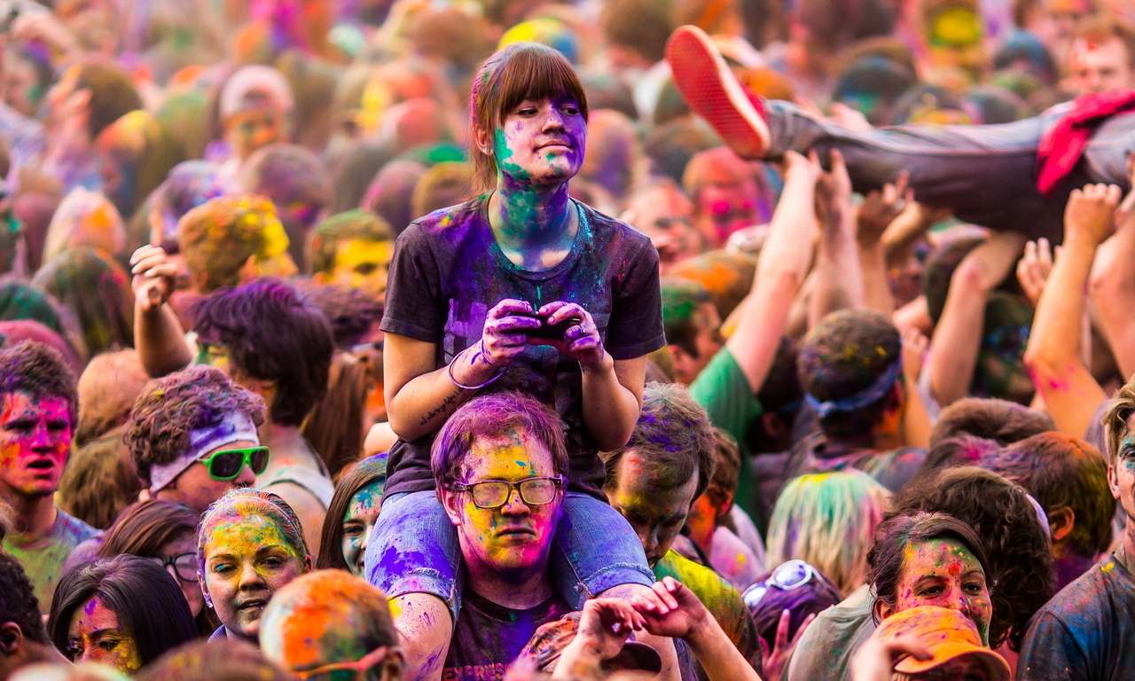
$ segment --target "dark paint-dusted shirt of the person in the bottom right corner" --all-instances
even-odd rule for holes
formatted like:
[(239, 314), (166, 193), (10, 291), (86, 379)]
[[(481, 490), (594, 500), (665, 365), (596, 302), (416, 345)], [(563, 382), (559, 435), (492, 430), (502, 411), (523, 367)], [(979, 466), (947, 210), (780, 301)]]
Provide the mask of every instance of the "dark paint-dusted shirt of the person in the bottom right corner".
[(1120, 557), (1098, 563), (1033, 615), (1018, 680), (1135, 679), (1135, 577)]

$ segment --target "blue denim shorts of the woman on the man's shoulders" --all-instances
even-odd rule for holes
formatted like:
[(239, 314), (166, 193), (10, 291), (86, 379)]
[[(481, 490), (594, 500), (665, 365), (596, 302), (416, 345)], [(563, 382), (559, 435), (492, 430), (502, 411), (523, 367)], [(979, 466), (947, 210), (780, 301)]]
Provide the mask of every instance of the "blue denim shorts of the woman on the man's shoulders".
[[(367, 581), (389, 597), (430, 594), (461, 609), (457, 530), (434, 491), (382, 499), (363, 560)], [(568, 493), (552, 547), (553, 586), (572, 607), (619, 585), (654, 583), (646, 552), (631, 526), (609, 505)]]

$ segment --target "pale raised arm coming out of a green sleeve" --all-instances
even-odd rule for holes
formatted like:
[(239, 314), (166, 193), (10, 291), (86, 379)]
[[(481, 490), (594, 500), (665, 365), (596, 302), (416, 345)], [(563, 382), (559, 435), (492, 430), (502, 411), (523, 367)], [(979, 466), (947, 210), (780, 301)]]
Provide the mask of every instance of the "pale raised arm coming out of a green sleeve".
[(725, 342), (754, 394), (768, 376), (789, 309), (808, 275), (817, 229), (814, 202), (819, 161), (815, 152), (807, 159), (788, 152), (784, 159), (784, 190), (760, 250), (753, 288)]

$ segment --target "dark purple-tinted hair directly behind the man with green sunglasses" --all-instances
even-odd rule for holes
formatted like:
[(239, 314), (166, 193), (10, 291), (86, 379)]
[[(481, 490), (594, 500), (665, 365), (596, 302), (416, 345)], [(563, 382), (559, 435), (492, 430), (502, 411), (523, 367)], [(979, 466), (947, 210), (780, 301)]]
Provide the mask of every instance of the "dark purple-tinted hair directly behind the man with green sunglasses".
[(300, 426), (327, 393), (334, 342), (322, 311), (276, 277), (224, 287), (197, 303), (201, 343), (228, 351), (233, 376), (276, 381), (268, 418)]

